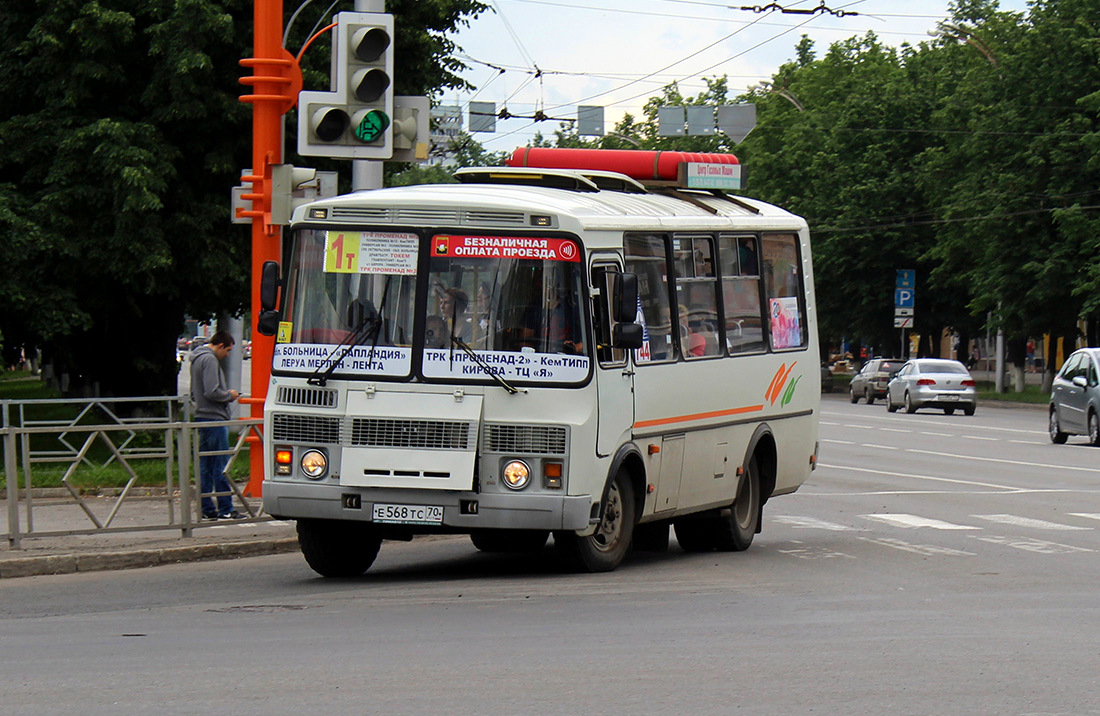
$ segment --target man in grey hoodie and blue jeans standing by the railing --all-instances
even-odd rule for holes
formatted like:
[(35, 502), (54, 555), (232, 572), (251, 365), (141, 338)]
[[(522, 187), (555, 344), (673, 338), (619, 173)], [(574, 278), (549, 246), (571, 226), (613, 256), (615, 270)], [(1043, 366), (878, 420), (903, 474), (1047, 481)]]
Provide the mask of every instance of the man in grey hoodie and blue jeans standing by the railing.
[[(195, 405), (195, 421), (231, 420), (230, 405), (240, 393), (226, 387), (226, 374), (221, 361), (233, 350), (233, 337), (228, 331), (218, 331), (210, 342), (191, 355), (191, 403)], [(199, 428), (199, 450), (213, 452), (229, 450), (229, 427)], [(232, 487), (226, 477), (229, 455), (206, 455), (199, 458), (199, 476), (202, 489), (204, 519), (241, 519), (241, 513), (233, 509)], [(211, 493), (218, 495), (217, 505)]]

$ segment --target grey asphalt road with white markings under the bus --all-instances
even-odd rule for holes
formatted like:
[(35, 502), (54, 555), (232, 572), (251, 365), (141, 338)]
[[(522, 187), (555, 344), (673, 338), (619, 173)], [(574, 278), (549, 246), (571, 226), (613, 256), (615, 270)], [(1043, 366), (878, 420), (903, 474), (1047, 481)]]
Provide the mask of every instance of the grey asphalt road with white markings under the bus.
[(0, 583), (12, 714), (1100, 714), (1100, 449), (840, 396), (740, 554), (389, 543)]

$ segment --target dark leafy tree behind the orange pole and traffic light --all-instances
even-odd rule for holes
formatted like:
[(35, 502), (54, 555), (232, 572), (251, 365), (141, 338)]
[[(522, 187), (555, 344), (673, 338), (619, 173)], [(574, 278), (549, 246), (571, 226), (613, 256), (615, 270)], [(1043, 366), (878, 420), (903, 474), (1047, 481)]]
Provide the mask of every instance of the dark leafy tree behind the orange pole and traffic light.
[[(249, 234), (227, 214), (251, 164), (238, 60), (251, 54), (252, 3), (10, 4), (0, 12), (0, 333), (42, 346), (69, 393), (174, 394), (184, 316), (234, 312), (248, 299)], [(389, 8), (397, 91), (460, 86), (448, 33), (486, 7)], [(309, 33), (300, 20), (292, 47)], [(306, 57), (307, 82), (327, 86), (329, 54)]]

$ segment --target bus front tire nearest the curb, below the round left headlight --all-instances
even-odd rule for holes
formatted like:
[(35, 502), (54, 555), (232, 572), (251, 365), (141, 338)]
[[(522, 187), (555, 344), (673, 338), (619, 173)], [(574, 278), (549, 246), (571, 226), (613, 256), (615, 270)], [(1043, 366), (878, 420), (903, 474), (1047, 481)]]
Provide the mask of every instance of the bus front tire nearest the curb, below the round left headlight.
[(299, 519), (298, 546), (310, 569), (321, 576), (359, 576), (374, 564), (382, 537), (359, 522)]

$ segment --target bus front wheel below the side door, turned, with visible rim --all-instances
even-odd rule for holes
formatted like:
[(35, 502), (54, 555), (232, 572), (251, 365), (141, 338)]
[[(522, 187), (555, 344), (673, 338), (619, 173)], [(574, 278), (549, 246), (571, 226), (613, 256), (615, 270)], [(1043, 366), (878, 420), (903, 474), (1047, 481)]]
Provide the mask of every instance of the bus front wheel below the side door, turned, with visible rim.
[(610, 572), (626, 558), (634, 537), (634, 488), (625, 472), (615, 475), (596, 531), (586, 537), (554, 532), (554, 549), (579, 571)]

